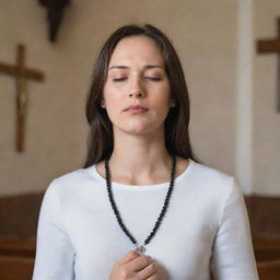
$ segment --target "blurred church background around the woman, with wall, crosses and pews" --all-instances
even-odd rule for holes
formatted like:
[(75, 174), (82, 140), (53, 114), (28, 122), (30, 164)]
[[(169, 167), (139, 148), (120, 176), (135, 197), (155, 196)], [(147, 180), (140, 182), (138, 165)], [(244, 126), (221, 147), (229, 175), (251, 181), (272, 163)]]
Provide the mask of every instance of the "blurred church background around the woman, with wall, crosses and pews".
[(31, 280), (49, 183), (81, 168), (85, 98), (101, 45), (151, 23), (172, 39), (190, 139), (243, 188), (260, 280), (280, 279), (279, 0), (1, 0), (0, 280)]

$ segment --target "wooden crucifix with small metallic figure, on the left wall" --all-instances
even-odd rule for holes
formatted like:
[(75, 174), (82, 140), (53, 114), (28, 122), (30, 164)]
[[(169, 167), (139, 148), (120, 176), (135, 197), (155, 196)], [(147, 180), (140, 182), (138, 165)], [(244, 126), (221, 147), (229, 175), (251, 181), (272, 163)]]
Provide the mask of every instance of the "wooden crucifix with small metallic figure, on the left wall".
[(16, 151), (22, 152), (24, 150), (24, 128), (26, 117), (26, 102), (27, 92), (25, 81), (32, 79), (35, 81), (43, 81), (44, 73), (24, 68), (25, 65), (25, 48), (23, 45), (18, 45), (18, 59), (16, 65), (11, 66), (7, 63), (0, 63), (0, 72), (12, 75), (16, 79)]

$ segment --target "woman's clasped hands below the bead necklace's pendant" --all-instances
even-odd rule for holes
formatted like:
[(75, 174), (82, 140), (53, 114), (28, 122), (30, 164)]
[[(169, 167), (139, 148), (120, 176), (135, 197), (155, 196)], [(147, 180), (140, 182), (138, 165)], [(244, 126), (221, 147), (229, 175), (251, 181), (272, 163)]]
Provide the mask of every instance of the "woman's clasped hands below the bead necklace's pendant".
[(165, 280), (162, 269), (149, 256), (130, 250), (114, 265), (109, 280)]

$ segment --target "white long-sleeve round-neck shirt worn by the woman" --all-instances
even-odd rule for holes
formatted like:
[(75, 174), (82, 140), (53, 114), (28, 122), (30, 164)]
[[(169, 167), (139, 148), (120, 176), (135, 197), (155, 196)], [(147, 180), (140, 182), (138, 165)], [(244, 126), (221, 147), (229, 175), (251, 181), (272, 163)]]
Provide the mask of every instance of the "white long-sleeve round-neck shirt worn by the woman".
[[(122, 221), (143, 244), (170, 183), (112, 183)], [(145, 246), (172, 280), (257, 280), (244, 198), (234, 178), (190, 161), (175, 179), (167, 212)], [(33, 280), (107, 280), (135, 246), (125, 235), (96, 166), (51, 182), (42, 203)]]

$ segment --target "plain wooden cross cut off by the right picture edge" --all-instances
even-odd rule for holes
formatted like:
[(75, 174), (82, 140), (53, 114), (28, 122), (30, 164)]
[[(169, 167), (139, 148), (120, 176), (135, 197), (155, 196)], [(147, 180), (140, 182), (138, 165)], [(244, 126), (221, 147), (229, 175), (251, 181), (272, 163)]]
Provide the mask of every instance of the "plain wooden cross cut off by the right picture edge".
[(259, 54), (278, 54), (278, 89), (277, 89), (277, 112), (280, 113), (280, 18), (277, 19), (278, 37), (271, 39), (260, 39), (257, 42)]

